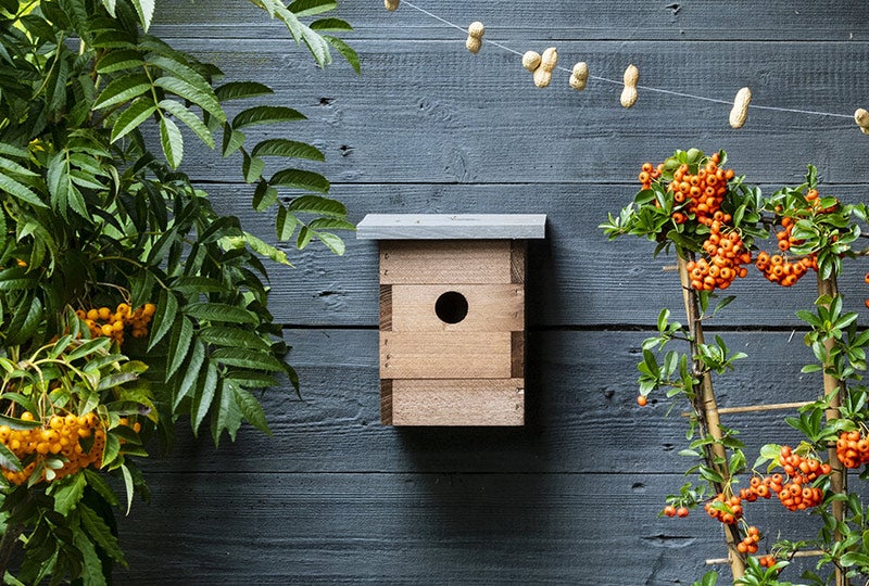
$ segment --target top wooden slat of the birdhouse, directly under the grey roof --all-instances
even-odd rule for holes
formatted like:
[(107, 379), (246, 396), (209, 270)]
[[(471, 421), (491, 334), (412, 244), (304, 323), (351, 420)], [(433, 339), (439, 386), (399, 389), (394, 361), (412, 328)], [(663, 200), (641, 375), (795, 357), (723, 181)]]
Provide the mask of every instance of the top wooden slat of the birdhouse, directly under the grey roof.
[(509, 240), (380, 242), (381, 284), (511, 283)]

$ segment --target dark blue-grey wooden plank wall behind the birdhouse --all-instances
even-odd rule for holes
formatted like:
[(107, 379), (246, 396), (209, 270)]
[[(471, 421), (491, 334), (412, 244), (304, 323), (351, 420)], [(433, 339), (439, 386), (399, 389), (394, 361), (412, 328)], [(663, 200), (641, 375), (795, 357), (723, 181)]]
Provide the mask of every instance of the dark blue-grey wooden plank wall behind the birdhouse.
[[(719, 104), (619, 88), (577, 93), (558, 73), (539, 90), (518, 58), (380, 0), (347, 1), (357, 30), (357, 78), (345, 64), (318, 72), (276, 23), (242, 0), (160, 2), (155, 30), (254, 77), (275, 103), (311, 122), (294, 137), (320, 146), (322, 170), (354, 220), (366, 213), (545, 213), (549, 239), (531, 246), (528, 425), (392, 429), (378, 422), (377, 251), (351, 240), (343, 258), (320, 249), (273, 271), (303, 399), (265, 397), (275, 437), (250, 430), (214, 450), (182, 432), (178, 450), (146, 464), (150, 506), (122, 525), (130, 568), (122, 584), (685, 584), (723, 550), (702, 512), (657, 519), (683, 483), (684, 422), (667, 405), (635, 407), (635, 362), (658, 308), (679, 310), (678, 283), (640, 241), (607, 243), (596, 229), (627, 204), (645, 160), (677, 148), (727, 149), (767, 189), (798, 183), (809, 162), (823, 190), (866, 198), (869, 138), (853, 122), (753, 110), (744, 129)], [(869, 18), (864, 2), (419, 0), (519, 50), (558, 47), (561, 64), (587, 61), (619, 79), (730, 100), (851, 114), (869, 106)], [(270, 237), (273, 218), (249, 211), (231, 164), (190, 151), (187, 170), (223, 209)], [(869, 289), (843, 279), (853, 307)], [(811, 397), (809, 359), (793, 311), (809, 279), (770, 290), (758, 275), (715, 324), (750, 354), (719, 383), (721, 404)], [(866, 310), (862, 309), (865, 314)], [(751, 449), (795, 441), (780, 415), (727, 418)], [(799, 538), (803, 517), (774, 502), (753, 522)]]

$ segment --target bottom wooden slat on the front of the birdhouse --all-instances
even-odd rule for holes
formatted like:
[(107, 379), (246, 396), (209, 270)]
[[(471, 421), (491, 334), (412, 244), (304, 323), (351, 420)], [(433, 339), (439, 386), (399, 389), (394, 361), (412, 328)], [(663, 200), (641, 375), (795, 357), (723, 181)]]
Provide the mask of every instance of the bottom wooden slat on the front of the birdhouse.
[(395, 380), (393, 425), (522, 425), (525, 383), (506, 380)]

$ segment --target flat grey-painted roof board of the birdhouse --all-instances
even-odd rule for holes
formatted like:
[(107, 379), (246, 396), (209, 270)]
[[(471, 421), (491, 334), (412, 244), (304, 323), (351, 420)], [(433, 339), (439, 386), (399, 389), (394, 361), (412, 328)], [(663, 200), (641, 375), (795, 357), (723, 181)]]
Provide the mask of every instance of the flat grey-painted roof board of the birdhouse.
[(517, 240), (545, 234), (545, 214), (368, 214), (356, 226), (360, 240)]

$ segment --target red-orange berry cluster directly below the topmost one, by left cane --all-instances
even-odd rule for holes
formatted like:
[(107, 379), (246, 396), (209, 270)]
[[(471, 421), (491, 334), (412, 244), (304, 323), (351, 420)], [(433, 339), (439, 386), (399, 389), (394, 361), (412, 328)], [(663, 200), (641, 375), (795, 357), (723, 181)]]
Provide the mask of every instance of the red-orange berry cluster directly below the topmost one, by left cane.
[(752, 253), (745, 249), (739, 232), (721, 231), (730, 215), (717, 211), (714, 217), (709, 238), (703, 243), (703, 252), (709, 259), (690, 260), (687, 266), (691, 289), (695, 291), (727, 289), (736, 277), (744, 278), (748, 273), (743, 265), (752, 262)]

